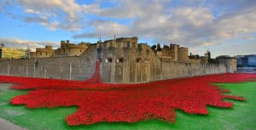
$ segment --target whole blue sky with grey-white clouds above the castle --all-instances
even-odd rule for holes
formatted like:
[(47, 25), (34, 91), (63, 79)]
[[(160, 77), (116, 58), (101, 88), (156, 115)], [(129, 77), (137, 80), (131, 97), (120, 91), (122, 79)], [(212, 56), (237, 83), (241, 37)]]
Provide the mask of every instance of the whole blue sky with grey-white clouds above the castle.
[(0, 42), (12, 48), (116, 35), (193, 54), (256, 54), (256, 0), (0, 0), (0, 20)]

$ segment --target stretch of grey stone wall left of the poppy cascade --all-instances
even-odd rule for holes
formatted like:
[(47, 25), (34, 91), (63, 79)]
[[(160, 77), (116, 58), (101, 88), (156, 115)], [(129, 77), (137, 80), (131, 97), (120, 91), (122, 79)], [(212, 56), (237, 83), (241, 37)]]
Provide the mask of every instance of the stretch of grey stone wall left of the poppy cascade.
[[(95, 71), (96, 46), (80, 57), (0, 60), (0, 75), (84, 80)], [(36, 66), (36, 67), (35, 67)]]

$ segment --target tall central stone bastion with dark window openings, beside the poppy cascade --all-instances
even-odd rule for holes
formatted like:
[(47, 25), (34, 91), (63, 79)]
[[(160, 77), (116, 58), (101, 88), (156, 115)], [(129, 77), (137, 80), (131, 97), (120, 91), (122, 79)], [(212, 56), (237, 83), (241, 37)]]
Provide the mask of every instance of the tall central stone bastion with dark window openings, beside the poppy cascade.
[[(103, 82), (149, 82), (160, 69), (160, 60), (146, 44), (138, 48), (102, 48)], [(158, 61), (157, 61), (158, 60)]]

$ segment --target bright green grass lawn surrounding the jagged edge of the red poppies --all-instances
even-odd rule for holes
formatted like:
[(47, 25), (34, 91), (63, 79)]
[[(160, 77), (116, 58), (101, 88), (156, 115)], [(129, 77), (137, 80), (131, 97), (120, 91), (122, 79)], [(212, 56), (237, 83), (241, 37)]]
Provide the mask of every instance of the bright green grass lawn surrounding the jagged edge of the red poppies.
[(0, 117), (30, 130), (256, 130), (256, 82), (218, 84), (231, 90), (230, 94), (241, 95), (246, 102), (229, 100), (234, 103), (232, 109), (207, 106), (208, 116), (189, 115), (177, 111), (175, 123), (157, 120), (125, 123), (100, 122), (90, 126), (69, 127), (65, 117), (77, 110), (76, 107), (59, 107), (55, 109), (27, 109), (24, 105), (10, 105), (9, 100), (26, 91), (9, 89), (10, 84), (0, 84)]

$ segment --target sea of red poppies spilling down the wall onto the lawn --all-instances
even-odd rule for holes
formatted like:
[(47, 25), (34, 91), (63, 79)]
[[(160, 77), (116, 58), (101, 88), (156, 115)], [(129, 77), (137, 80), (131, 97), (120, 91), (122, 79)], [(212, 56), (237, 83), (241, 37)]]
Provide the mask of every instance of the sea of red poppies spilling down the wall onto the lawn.
[(233, 103), (224, 99), (246, 100), (242, 95), (226, 95), (229, 90), (212, 82), (255, 81), (256, 74), (194, 76), (140, 84), (103, 83), (100, 77), (97, 63), (95, 75), (84, 82), (18, 76), (0, 76), (0, 82), (15, 83), (11, 87), (14, 89), (31, 90), (12, 99), (13, 105), (31, 109), (78, 106), (76, 113), (66, 117), (68, 125), (76, 126), (152, 119), (175, 122), (177, 109), (207, 115), (207, 105), (230, 108)]

